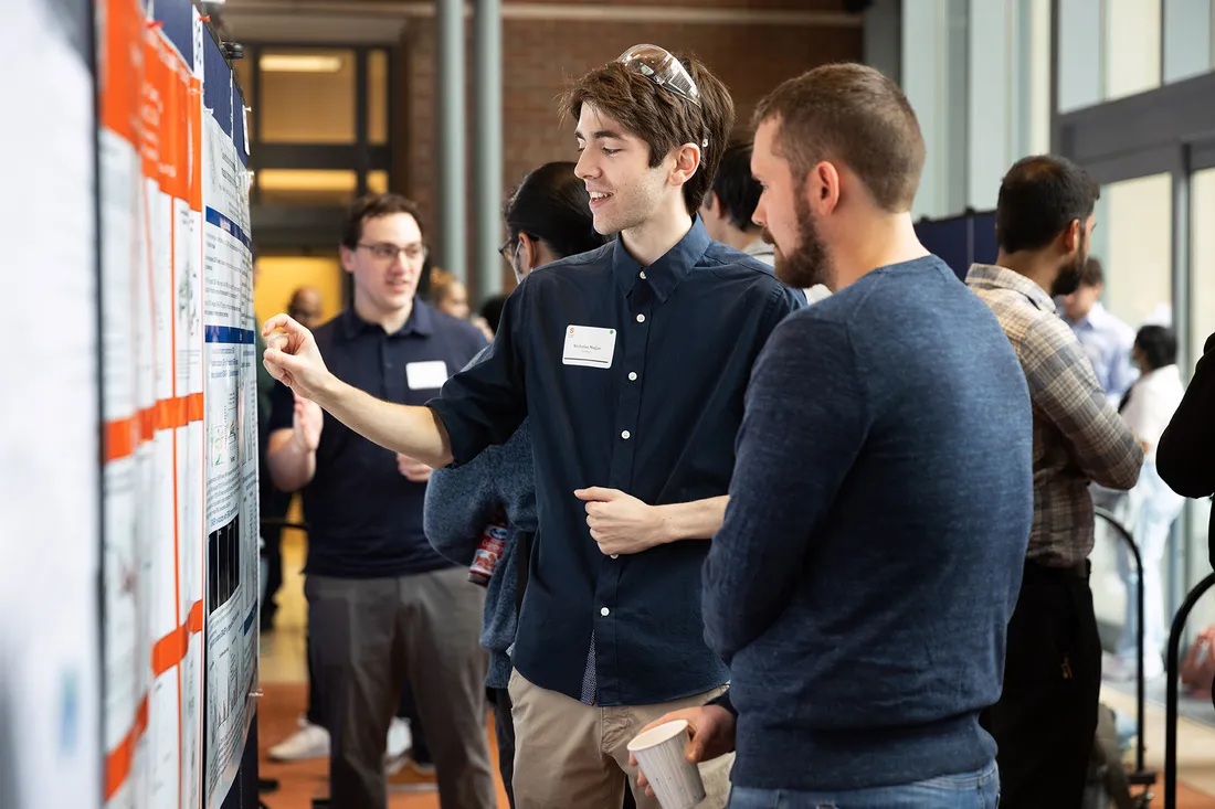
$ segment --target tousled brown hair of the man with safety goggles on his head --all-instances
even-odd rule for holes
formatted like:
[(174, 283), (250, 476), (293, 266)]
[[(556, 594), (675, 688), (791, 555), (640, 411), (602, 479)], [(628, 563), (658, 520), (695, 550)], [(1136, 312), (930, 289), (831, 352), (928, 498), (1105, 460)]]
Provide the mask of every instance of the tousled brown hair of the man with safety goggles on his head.
[[(575, 120), (582, 104), (617, 121), (650, 147), (650, 168), (684, 143), (700, 146), (700, 166), (684, 183), (688, 213), (700, 208), (713, 182), (734, 128), (734, 100), (720, 79), (703, 62), (680, 58), (700, 91), (700, 106), (633, 73), (620, 62), (609, 62), (578, 79), (561, 96), (561, 109)], [(708, 140), (708, 145), (703, 141)]]

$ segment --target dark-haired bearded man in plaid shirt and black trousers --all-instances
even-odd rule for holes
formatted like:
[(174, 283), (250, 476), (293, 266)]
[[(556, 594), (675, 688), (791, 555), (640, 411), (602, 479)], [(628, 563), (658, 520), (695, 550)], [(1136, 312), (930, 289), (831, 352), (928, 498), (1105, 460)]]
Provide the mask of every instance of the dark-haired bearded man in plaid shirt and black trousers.
[(999, 745), (1001, 808), (1081, 804), (1101, 691), (1089, 485), (1129, 490), (1143, 462), (1055, 310), (1053, 296), (1079, 284), (1098, 196), (1062, 158), (1017, 162), (1000, 186), (996, 264), (974, 265), (966, 278), (1008, 335), (1034, 406), (1034, 521), (1004, 692), (983, 718)]

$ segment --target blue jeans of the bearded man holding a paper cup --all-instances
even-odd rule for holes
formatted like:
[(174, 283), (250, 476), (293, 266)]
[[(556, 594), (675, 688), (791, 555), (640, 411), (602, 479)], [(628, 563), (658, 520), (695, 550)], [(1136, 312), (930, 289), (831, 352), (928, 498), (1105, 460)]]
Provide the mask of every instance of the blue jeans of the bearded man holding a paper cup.
[(999, 797), (1000, 774), (991, 762), (974, 773), (871, 790), (795, 792), (734, 787), (729, 809), (995, 809)]

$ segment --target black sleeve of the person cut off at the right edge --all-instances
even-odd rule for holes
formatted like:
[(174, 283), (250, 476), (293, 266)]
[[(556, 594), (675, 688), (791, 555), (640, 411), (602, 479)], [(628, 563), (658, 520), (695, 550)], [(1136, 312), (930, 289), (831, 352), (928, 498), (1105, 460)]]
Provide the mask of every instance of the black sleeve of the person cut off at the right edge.
[(1157, 446), (1155, 466), (1183, 497), (1215, 493), (1215, 334)]

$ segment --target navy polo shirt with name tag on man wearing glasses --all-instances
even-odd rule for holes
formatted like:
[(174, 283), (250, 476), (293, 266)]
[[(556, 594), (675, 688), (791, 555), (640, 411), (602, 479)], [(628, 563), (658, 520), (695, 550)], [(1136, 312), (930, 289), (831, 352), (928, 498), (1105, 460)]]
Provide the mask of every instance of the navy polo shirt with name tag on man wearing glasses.
[[(317, 328), (315, 336), (338, 379), (400, 405), (422, 405), (434, 397), (447, 375), (485, 346), (476, 327), (420, 300), (395, 334), (347, 309)], [(279, 383), (273, 396), (271, 431), (290, 429), (290, 389)], [(425, 496), (425, 483), (401, 475), (395, 452), (326, 413), (316, 475), (303, 490), (309, 524), (304, 572), (378, 578), (450, 567), (423, 533)]]

